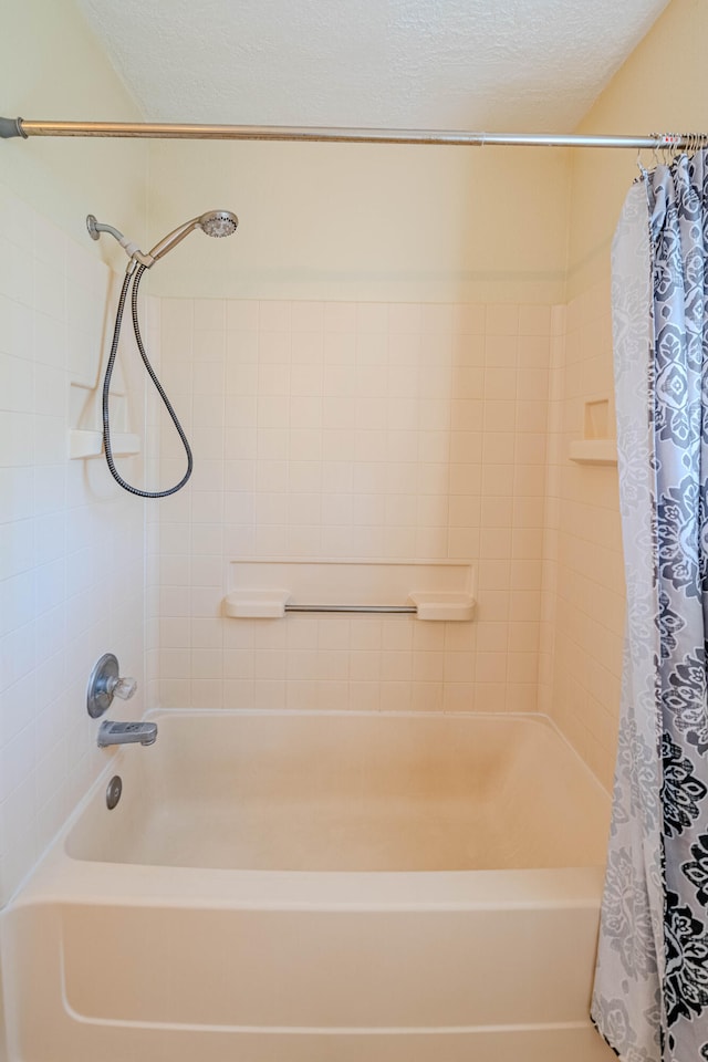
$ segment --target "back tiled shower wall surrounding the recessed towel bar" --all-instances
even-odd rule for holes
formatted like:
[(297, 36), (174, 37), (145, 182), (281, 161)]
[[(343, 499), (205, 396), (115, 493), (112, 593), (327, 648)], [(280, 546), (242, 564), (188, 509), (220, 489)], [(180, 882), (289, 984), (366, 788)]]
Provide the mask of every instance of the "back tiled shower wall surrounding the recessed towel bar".
[[(149, 510), (150, 704), (535, 710), (550, 308), (160, 300), (190, 486)], [(183, 473), (160, 419), (160, 486)], [(473, 623), (222, 618), (230, 560), (449, 560)]]

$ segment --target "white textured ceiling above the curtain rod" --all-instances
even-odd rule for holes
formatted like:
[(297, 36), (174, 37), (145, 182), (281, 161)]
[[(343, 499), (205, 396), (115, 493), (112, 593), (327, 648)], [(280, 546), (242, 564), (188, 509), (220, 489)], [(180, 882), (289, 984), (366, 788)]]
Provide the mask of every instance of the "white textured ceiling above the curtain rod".
[(668, 0), (77, 2), (148, 121), (565, 132)]

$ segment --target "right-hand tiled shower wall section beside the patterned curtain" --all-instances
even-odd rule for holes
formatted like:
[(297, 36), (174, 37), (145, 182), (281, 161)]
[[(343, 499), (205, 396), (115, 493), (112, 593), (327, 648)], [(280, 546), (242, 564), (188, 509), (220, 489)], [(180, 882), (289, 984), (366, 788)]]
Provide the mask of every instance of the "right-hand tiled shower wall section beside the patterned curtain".
[(617, 469), (577, 465), (569, 450), (589, 430), (587, 402), (607, 403), (606, 435), (614, 437), (613, 391), (611, 296), (603, 283), (569, 303), (551, 355), (539, 704), (606, 788), (625, 612)]

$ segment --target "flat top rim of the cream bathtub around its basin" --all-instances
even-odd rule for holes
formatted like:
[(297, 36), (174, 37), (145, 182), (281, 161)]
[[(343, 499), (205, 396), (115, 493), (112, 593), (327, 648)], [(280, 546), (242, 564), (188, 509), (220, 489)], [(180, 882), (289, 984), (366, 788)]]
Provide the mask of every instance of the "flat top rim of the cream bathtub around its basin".
[[(144, 719), (163, 721), (180, 716), (217, 718), (243, 716), (336, 716), (352, 718), (494, 719), (550, 729), (572, 753), (579, 769), (608, 794), (553, 719), (541, 712), (350, 711), (347, 709), (191, 709), (153, 708)], [(111, 754), (98, 777), (73, 809), (38, 863), (4, 907), (37, 903), (111, 906), (209, 906), (289, 910), (435, 910), (509, 909), (548, 906), (596, 907), (602, 896), (604, 866), (475, 871), (251, 871), (164, 866), (79, 860), (69, 855), (69, 833), (124, 757), (143, 749), (128, 747)]]

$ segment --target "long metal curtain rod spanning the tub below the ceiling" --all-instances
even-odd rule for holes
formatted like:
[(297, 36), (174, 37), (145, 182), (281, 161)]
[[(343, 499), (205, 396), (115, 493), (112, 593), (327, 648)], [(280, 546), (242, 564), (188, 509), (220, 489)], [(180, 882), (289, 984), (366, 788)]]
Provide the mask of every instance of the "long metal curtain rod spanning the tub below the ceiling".
[(30, 122), (0, 118), (0, 138), (29, 136), (126, 136), (185, 140), (309, 140), (340, 144), (442, 144), (469, 147), (626, 147), (690, 150), (708, 146), (706, 133), (648, 136), (579, 136), (548, 133), (468, 133), (444, 129), (308, 128), (287, 125), (188, 125), (159, 122)]

